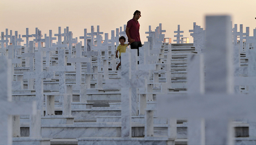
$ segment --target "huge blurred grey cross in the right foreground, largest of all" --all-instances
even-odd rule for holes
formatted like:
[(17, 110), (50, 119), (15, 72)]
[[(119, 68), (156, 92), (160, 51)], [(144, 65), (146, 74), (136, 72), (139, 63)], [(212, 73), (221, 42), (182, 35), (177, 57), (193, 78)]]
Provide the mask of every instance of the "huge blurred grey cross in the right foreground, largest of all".
[[(158, 112), (161, 112), (158, 115), (205, 118), (206, 144), (233, 144), (233, 129), (229, 125), (229, 118), (253, 117), (251, 115), (254, 114), (256, 107), (252, 102), (255, 102), (256, 98), (230, 95), (233, 92), (230, 16), (207, 16), (206, 28), (206, 95), (191, 94), (178, 98), (170, 98), (168, 95), (157, 96)], [(169, 107), (165, 106), (167, 102)], [(204, 133), (201, 135), (204, 136)], [(188, 144), (204, 144), (203, 139), (199, 138), (197, 141)]]

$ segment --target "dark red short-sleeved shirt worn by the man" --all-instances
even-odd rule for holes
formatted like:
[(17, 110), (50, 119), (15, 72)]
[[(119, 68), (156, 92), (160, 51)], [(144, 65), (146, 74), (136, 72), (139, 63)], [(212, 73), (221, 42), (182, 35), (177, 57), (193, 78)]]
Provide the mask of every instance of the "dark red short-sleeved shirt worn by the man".
[[(136, 22), (136, 20), (133, 18), (127, 22), (127, 26), (129, 29), (129, 34), (132, 39), (134, 39), (136, 42), (140, 42), (140, 24), (139, 21)], [(128, 39), (129, 42), (129, 39)]]

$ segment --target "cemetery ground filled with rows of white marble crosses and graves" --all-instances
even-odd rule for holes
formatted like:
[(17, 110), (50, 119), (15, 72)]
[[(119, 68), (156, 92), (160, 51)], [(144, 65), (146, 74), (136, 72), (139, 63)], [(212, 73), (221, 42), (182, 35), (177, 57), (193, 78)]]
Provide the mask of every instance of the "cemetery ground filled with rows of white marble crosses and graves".
[(0, 144), (256, 144), (256, 29), (249, 36), (231, 23), (191, 24), (193, 43), (180, 25), (176, 43), (162, 24), (149, 26), (139, 56), (128, 46), (119, 70), (126, 25), (111, 37), (99, 26), (76, 38), (69, 27), (44, 36), (6, 29)]

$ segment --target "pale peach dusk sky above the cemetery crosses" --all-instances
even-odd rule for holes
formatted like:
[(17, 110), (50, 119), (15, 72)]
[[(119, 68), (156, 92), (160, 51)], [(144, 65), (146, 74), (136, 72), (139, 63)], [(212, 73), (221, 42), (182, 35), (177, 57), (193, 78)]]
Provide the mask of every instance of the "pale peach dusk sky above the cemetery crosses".
[[(29, 34), (35, 34), (35, 28), (42, 31), (42, 35), (49, 36), (58, 33), (58, 27), (64, 32), (69, 26), (73, 38), (83, 36), (84, 28), (90, 33), (91, 26), (97, 31), (109, 33), (111, 30), (123, 27), (132, 19), (133, 12), (141, 11), (140, 38), (142, 43), (147, 41), (148, 26), (154, 31), (159, 23), (166, 30), (165, 37), (174, 38), (177, 25), (184, 31), (184, 37), (193, 43), (189, 30), (193, 29), (193, 22), (204, 27), (206, 15), (229, 14), (234, 24), (244, 24), (250, 27), (250, 36), (256, 27), (255, 14), (256, 0), (0, 0), (0, 32), (5, 28), (18, 31), (25, 35), (26, 28)], [(239, 31), (239, 30), (238, 30)], [(104, 35), (102, 35), (104, 39)], [(32, 41), (34, 38), (30, 38)], [(23, 38), (25, 40), (25, 38)], [(83, 39), (78, 39), (78, 42)], [(176, 43), (176, 42), (174, 42)]]

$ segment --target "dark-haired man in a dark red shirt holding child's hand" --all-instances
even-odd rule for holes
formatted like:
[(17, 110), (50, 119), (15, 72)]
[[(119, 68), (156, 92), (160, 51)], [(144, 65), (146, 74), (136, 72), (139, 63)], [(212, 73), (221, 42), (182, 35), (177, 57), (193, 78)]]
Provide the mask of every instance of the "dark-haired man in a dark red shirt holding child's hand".
[(140, 24), (138, 19), (141, 17), (140, 11), (136, 10), (133, 14), (133, 18), (127, 22), (126, 26), (126, 35), (128, 37), (128, 42), (131, 43), (131, 49), (138, 49), (139, 56), (139, 47), (142, 47), (140, 41)]

